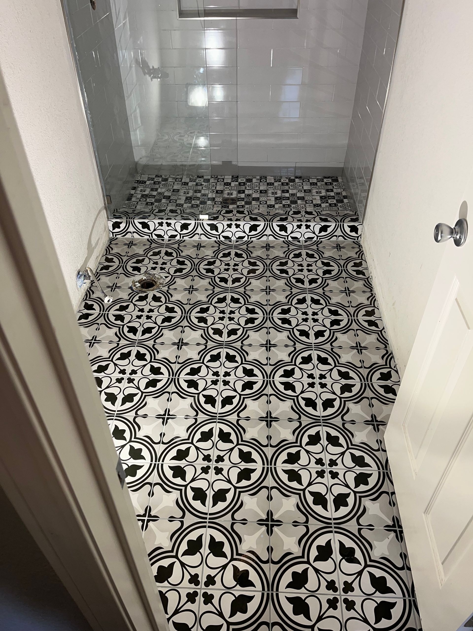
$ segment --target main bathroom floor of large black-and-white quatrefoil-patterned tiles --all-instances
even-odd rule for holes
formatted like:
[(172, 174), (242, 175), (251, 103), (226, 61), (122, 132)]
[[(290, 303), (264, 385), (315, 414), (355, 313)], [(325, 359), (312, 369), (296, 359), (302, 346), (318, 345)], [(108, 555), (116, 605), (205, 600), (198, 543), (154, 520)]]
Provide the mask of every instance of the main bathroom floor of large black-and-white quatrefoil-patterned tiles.
[(172, 631), (418, 631), (361, 246), (114, 238), (97, 273), (79, 325)]

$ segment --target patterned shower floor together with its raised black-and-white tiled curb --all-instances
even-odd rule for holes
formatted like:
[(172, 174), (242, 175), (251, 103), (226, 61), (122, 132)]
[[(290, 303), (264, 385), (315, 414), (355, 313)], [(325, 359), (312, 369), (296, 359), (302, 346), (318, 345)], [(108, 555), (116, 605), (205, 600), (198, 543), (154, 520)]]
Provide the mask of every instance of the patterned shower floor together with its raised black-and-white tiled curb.
[(117, 237), (359, 239), (341, 177), (138, 175), (108, 221)]

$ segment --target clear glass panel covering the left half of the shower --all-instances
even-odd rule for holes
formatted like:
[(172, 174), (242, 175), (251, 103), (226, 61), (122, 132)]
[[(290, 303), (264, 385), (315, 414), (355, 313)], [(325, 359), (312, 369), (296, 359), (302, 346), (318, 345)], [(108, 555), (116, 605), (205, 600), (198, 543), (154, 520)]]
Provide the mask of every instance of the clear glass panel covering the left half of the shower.
[(175, 0), (64, 3), (114, 215), (132, 214), (136, 174), (238, 173), (237, 19), (208, 15), (236, 0), (185, 0), (192, 19)]

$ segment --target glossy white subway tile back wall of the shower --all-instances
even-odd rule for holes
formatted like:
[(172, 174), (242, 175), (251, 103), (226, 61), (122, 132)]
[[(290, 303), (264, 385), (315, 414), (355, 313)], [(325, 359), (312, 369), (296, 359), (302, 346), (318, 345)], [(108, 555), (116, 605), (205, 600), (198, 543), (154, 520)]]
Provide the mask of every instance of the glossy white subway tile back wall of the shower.
[[(202, 21), (178, 20), (175, 0), (110, 1), (139, 170), (341, 172), (368, 0)], [(208, 86), (202, 107), (187, 103), (192, 85)]]

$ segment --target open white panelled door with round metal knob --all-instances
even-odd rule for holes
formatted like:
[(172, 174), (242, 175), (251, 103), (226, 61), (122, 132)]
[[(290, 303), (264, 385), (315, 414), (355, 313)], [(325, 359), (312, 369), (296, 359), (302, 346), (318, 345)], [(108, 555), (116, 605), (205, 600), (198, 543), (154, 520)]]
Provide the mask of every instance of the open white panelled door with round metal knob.
[(385, 436), (424, 631), (473, 612), (473, 171), (458, 207)]

